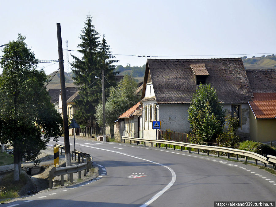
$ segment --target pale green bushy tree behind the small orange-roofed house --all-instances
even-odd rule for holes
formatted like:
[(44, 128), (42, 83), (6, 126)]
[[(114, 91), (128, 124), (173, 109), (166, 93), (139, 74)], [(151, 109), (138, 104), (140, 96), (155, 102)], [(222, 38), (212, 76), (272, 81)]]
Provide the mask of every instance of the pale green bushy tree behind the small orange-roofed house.
[[(125, 75), (116, 88), (110, 89), (110, 95), (105, 103), (105, 124), (113, 126), (114, 121), (139, 102), (140, 97), (136, 96), (137, 83), (130, 75)], [(102, 126), (102, 104), (96, 108), (95, 117), (99, 126)]]

